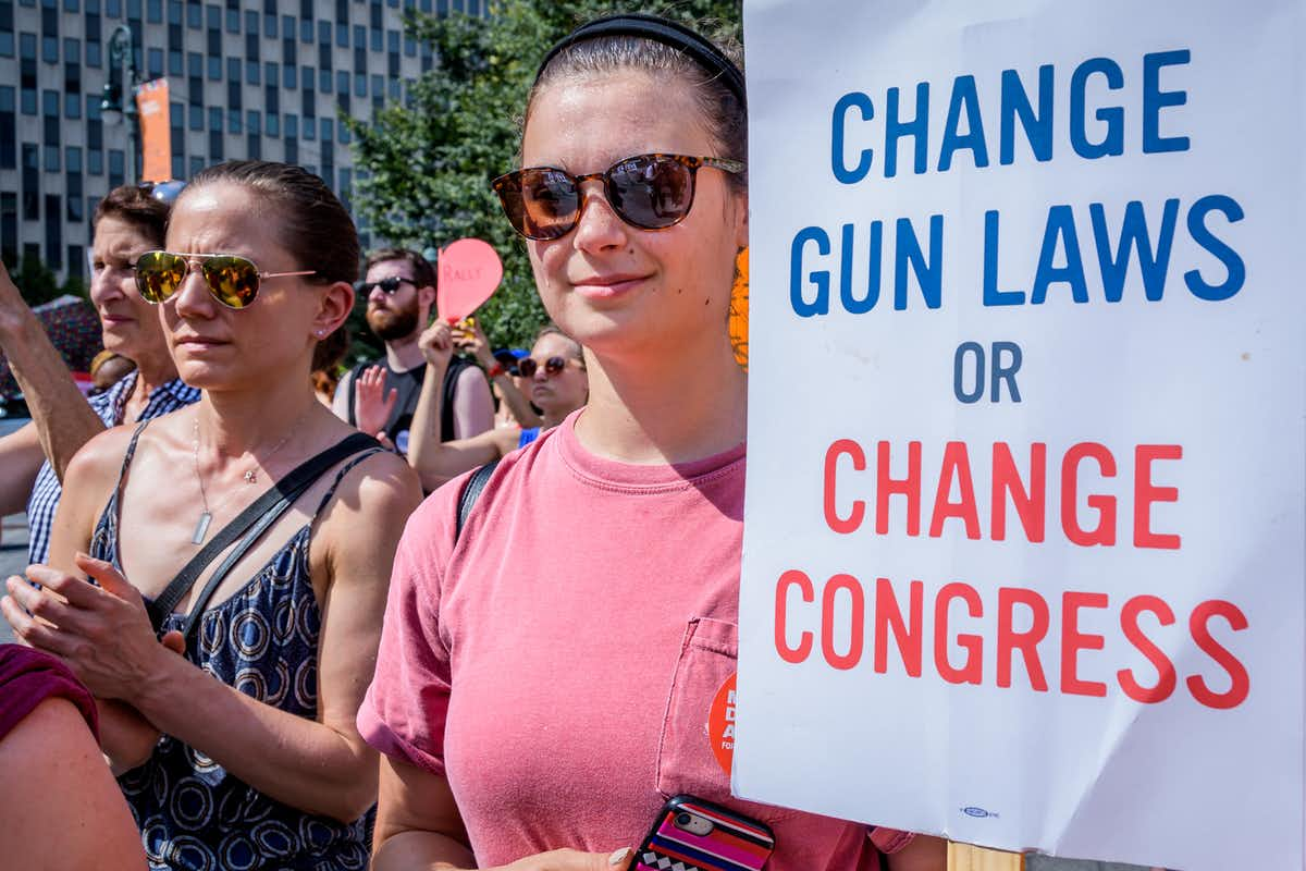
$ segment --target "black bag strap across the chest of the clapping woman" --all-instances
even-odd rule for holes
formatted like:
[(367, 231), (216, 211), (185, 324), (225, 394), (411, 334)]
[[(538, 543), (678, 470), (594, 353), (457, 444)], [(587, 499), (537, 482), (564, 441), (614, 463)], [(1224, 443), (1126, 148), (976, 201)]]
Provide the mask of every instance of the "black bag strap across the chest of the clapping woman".
[[(230, 547), (231, 542), (236, 541), (242, 535), (246, 535), (247, 531), (257, 533), (253, 537), (247, 535), (246, 541), (242, 542), (243, 548), (248, 550), (255, 538), (276, 522), (276, 520), (281, 517), (281, 515), (285, 513), (285, 511), (290, 508), (290, 505), (294, 504), (294, 501), (299, 499), (299, 496), (303, 495), (303, 492), (308, 490), (308, 487), (311, 487), (313, 482), (317, 481), (328, 469), (346, 457), (375, 447), (377, 447), (376, 439), (363, 435), (362, 432), (355, 432), (330, 448), (326, 448), (321, 453), (310, 457), (291, 470), (285, 478), (274, 483), (265, 494), (259, 496), (259, 499), (240, 512), (235, 520), (223, 526), (218, 534), (214, 535), (202, 550), (200, 550), (199, 554), (192, 556), (191, 562), (182, 567), (182, 571), (178, 572), (176, 577), (172, 578), (172, 582), (167, 585), (167, 589), (165, 589), (158, 598), (146, 603), (145, 607), (150, 615), (150, 623), (154, 626), (154, 631), (158, 632), (162, 629), (163, 620), (167, 615), (171, 614), (178, 602), (180, 602), (182, 598), (191, 592), (191, 588), (195, 586), (200, 575), (209, 567), (209, 563), (217, 559), (218, 554)], [(242, 551), (242, 547), (238, 547), (236, 551)], [(229, 556), (227, 560), (223, 562), (222, 567), (219, 567), (218, 573), (225, 573), (223, 568), (230, 569), (234, 564), (235, 560)], [(204, 594), (200, 597), (201, 601), (199, 602), (199, 611), (204, 610), (204, 601), (212, 595), (214, 589), (217, 589), (217, 585), (210, 580), (210, 582), (204, 588)], [(187, 620), (188, 631), (192, 628), (191, 624), (195, 620), (195, 614), (199, 611), (196, 607), (191, 609), (191, 618)]]

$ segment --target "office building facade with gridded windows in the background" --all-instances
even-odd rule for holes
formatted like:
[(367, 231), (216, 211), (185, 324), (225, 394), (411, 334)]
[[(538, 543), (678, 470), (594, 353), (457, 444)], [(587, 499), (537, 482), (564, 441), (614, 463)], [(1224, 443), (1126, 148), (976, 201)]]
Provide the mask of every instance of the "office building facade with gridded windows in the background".
[(95, 205), (133, 178), (129, 121), (101, 111), (119, 25), (131, 27), (140, 80), (168, 81), (174, 178), (227, 159), (287, 161), (350, 205), (338, 114), (368, 120), (432, 65), (430, 47), (405, 38), (404, 10), (482, 16), (486, 3), (0, 0), (0, 252), (89, 278)]

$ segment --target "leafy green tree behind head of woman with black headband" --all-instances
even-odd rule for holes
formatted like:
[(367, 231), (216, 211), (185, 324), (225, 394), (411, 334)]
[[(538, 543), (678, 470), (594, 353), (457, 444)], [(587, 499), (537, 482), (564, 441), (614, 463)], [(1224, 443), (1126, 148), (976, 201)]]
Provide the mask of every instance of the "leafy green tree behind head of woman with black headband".
[(526, 345), (546, 315), (525, 245), (503, 217), (490, 180), (516, 166), (518, 116), (549, 47), (577, 24), (611, 12), (652, 12), (738, 39), (739, 0), (500, 0), (488, 18), (409, 13), (435, 67), (371, 124), (343, 118), (363, 172), (355, 206), (372, 230), (401, 245), (485, 239), (504, 261), (504, 282), (479, 317), (490, 341)]

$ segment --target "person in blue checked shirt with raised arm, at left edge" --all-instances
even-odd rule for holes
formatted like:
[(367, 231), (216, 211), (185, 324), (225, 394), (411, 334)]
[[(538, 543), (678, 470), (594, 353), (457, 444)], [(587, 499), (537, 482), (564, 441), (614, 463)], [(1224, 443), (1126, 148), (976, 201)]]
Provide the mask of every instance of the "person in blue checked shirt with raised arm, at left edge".
[(0, 266), (0, 350), (31, 410), (31, 423), (0, 439), (0, 516), (26, 509), (29, 563), (48, 556), (60, 482), (84, 444), (108, 427), (148, 420), (200, 398), (178, 379), (158, 313), (136, 290), (136, 259), (163, 247), (174, 188), (123, 185), (95, 209), (90, 302), (104, 347), (133, 362), (136, 371), (89, 401)]

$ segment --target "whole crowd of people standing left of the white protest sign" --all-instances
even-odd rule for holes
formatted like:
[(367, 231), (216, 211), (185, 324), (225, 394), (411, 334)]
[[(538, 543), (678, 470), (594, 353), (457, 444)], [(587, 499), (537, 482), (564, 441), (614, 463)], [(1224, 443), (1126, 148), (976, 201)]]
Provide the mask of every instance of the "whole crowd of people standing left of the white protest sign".
[[(524, 116), (494, 188), (552, 319), (526, 355), (427, 325), (414, 252), (359, 278), (347, 212), (281, 163), (102, 201), (91, 299), (135, 367), (89, 404), (0, 274), (33, 410), (0, 440), (33, 528), (0, 825), (50, 811), (16, 867), (663, 867), (632, 849), (692, 795), (769, 827), (771, 871), (944, 868), (938, 838), (731, 797), (704, 730), (737, 654), (737, 63), (601, 18)], [(337, 379), (359, 295), (385, 356)]]

